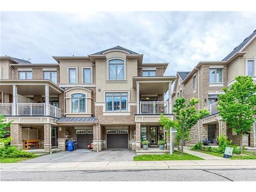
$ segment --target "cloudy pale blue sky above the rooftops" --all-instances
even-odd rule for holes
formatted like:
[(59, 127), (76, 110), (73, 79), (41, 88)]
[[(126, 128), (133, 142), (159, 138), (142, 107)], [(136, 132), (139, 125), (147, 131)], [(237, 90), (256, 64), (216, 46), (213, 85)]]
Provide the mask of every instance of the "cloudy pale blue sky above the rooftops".
[(175, 75), (222, 60), (255, 29), (256, 12), (1, 12), (0, 55), (56, 63), (119, 45)]

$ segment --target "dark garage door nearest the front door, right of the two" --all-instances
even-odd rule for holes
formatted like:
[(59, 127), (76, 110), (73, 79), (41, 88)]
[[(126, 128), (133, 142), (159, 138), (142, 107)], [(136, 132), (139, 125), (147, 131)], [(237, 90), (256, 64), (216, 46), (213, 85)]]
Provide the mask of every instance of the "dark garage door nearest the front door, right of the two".
[(128, 148), (127, 130), (108, 130), (106, 133), (107, 148)]

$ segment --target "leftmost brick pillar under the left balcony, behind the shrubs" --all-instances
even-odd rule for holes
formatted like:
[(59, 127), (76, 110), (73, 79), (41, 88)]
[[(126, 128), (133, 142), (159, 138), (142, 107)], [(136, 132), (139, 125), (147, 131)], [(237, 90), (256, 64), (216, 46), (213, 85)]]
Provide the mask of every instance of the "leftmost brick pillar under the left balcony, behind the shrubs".
[(10, 126), (11, 131), (11, 145), (16, 146), (20, 149), (23, 148), (22, 143), (22, 125), (12, 123)]

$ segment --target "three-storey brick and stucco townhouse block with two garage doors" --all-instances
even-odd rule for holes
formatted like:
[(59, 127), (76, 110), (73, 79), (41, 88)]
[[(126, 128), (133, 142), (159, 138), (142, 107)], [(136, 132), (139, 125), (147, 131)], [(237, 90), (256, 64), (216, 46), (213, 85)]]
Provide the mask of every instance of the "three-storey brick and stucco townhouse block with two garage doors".
[[(41, 148), (65, 150), (93, 143), (104, 148), (141, 148), (167, 138), (160, 114), (173, 118), (175, 76), (168, 63), (143, 63), (143, 55), (114, 47), (88, 56), (54, 56), (57, 63), (0, 57), (0, 114), (13, 120), (12, 145), (39, 139)], [(168, 146), (167, 146), (168, 148)]]

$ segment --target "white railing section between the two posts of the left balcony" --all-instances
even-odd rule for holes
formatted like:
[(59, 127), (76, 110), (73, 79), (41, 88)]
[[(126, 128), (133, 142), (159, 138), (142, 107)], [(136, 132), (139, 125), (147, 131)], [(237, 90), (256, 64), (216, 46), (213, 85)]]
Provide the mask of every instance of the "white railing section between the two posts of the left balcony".
[(45, 103), (17, 103), (17, 115), (45, 115)]

